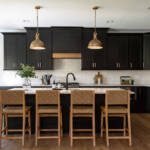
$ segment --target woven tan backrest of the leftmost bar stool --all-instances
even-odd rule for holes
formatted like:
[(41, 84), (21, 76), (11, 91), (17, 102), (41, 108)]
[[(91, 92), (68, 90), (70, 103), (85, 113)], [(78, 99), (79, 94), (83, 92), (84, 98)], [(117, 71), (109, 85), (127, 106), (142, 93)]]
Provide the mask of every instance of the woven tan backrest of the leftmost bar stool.
[(1, 90), (0, 104), (23, 105), (25, 103), (25, 92), (22, 90)]

